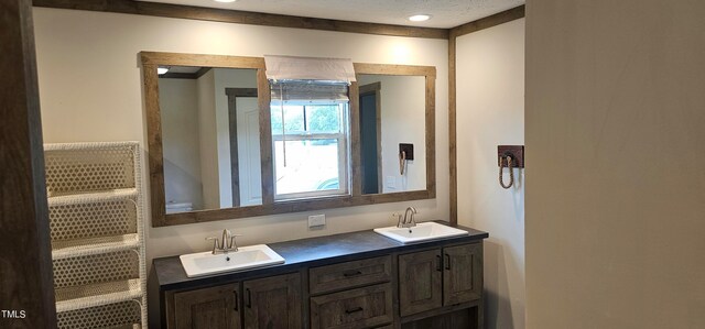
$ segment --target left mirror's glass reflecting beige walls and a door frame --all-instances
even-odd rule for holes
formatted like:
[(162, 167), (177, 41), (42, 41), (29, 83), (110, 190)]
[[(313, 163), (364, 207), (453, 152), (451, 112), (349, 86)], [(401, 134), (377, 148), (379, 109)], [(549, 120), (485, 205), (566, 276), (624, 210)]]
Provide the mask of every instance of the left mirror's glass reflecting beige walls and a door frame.
[(159, 76), (166, 213), (261, 205), (257, 70)]

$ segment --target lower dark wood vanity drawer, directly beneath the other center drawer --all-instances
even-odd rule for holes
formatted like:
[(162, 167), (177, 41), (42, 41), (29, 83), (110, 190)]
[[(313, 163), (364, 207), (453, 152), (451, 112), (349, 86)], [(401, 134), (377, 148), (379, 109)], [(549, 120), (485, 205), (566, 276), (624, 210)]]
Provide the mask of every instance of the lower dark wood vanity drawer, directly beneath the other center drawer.
[(311, 297), (311, 328), (371, 328), (392, 321), (389, 283)]

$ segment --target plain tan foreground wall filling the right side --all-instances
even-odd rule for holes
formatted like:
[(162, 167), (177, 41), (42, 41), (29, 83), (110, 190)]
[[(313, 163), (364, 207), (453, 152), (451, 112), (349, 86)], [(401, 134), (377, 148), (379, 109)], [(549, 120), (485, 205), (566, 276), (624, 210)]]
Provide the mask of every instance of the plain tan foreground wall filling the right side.
[(527, 1), (527, 325), (705, 328), (705, 1)]

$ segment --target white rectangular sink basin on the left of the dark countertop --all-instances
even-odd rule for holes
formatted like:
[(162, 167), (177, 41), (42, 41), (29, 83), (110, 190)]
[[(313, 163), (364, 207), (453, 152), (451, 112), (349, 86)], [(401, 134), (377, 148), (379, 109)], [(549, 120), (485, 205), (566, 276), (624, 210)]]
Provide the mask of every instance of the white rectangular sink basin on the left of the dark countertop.
[(206, 251), (178, 257), (188, 277), (284, 263), (284, 259), (267, 244), (241, 246), (238, 251), (215, 255)]

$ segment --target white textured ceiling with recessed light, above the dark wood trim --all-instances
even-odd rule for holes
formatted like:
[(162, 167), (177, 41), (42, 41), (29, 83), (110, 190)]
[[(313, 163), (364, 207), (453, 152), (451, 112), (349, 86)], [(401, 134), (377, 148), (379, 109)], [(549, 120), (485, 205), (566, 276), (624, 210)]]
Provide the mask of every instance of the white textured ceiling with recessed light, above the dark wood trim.
[[(507, 9), (524, 0), (147, 0), (231, 10), (279, 13), (394, 25), (454, 28)], [(412, 14), (431, 14), (426, 22), (410, 22)]]

